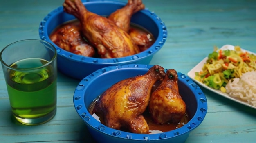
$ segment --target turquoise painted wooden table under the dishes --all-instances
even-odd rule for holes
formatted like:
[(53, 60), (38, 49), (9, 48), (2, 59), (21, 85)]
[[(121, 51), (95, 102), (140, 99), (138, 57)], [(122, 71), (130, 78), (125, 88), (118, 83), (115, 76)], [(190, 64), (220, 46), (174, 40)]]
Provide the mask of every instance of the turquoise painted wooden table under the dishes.
[[(0, 0), (0, 50), (22, 39), (39, 39), (41, 20), (64, 0)], [(126, 2), (126, 0), (122, 0)], [(256, 52), (255, 0), (144, 0), (166, 24), (168, 38), (150, 64), (187, 74), (213, 51), (213, 46), (240, 45)], [(11, 108), (0, 67), (1, 143), (94, 142), (73, 106), (80, 81), (58, 73), (56, 116), (39, 126), (18, 124)], [(202, 88), (207, 115), (186, 143), (252, 143), (256, 110)]]

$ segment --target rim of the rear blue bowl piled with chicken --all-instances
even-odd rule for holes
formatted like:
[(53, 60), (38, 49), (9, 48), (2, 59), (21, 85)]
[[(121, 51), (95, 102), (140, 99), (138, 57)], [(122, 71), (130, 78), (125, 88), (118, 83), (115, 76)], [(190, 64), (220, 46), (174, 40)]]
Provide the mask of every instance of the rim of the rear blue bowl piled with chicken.
[[(113, 3), (113, 4), (119, 4), (120, 6), (124, 6), (126, 4), (125, 2), (117, 2), (117, 1), (83, 2), (85, 6), (89, 4), (98, 4), (98, 3), (106, 3), (106, 4)], [(162, 20), (154, 12), (151, 12), (146, 8), (144, 10), (139, 11), (138, 13), (143, 13), (144, 15), (151, 17), (152, 20), (155, 22), (155, 24), (157, 24), (157, 27), (159, 29), (158, 37), (156, 38), (155, 43), (150, 48), (138, 54), (121, 57), (121, 58), (103, 59), (103, 58), (85, 57), (85, 56), (77, 55), (72, 52), (68, 52), (66, 50), (61, 49), (55, 43), (53, 43), (51, 39), (49, 39), (48, 35), (50, 33), (47, 32), (47, 27), (49, 25), (48, 21), (52, 20), (55, 15), (58, 15), (59, 13), (63, 13), (63, 12), (64, 12), (63, 6), (60, 6), (57, 9), (54, 9), (53, 11), (48, 13), (48, 15), (45, 16), (44, 19), (40, 22), (39, 36), (40, 36), (40, 39), (46, 40), (49, 43), (52, 43), (56, 47), (58, 56), (63, 56), (65, 58), (68, 58), (71, 61), (76, 61), (81, 63), (91, 63), (95, 65), (104, 65), (104, 64), (116, 65), (116, 64), (122, 64), (122, 63), (141, 61), (142, 59), (155, 54), (160, 48), (162, 48), (162, 45), (164, 45), (167, 38), (167, 30), (164, 22), (162, 22)]]

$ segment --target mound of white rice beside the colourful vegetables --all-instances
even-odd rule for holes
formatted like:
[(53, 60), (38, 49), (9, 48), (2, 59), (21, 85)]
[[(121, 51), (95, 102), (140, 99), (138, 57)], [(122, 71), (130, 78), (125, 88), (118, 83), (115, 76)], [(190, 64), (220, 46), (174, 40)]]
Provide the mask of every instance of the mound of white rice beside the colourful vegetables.
[(226, 92), (256, 106), (256, 71), (246, 72), (240, 78), (229, 80)]

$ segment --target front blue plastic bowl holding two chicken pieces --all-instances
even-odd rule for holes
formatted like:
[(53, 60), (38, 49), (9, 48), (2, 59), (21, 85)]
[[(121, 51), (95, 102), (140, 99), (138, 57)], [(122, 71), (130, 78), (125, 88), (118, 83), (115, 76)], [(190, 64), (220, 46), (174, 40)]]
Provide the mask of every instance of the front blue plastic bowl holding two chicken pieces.
[(74, 92), (74, 106), (92, 137), (102, 143), (183, 143), (189, 133), (202, 123), (207, 113), (207, 100), (198, 85), (185, 74), (178, 73), (179, 92), (190, 116), (181, 128), (158, 134), (134, 134), (109, 128), (97, 121), (88, 111), (91, 102), (120, 80), (145, 74), (152, 65), (119, 65), (97, 70), (81, 80)]

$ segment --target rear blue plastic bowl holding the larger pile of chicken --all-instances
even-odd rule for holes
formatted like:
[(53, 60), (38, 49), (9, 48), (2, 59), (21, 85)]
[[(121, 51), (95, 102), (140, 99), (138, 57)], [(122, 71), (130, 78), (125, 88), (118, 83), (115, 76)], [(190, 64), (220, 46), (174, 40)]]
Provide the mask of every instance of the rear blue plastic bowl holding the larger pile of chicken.
[[(110, 13), (125, 6), (126, 3), (116, 1), (94, 1), (84, 2), (83, 4), (89, 11), (97, 13), (98, 15), (110, 15)], [(161, 19), (157, 17), (155, 13), (150, 12), (148, 9), (144, 9), (135, 13), (132, 16), (131, 22), (143, 26), (154, 35), (156, 41), (150, 48), (139, 54), (123, 58), (101, 59), (85, 57), (61, 49), (49, 39), (49, 35), (57, 26), (73, 19), (75, 19), (75, 17), (65, 13), (62, 6), (58, 7), (50, 12), (40, 23), (39, 35), (40, 39), (46, 40), (56, 47), (58, 54), (58, 70), (68, 76), (80, 80), (95, 70), (107, 66), (130, 63), (149, 64), (153, 55), (162, 48), (167, 37), (166, 26)]]

